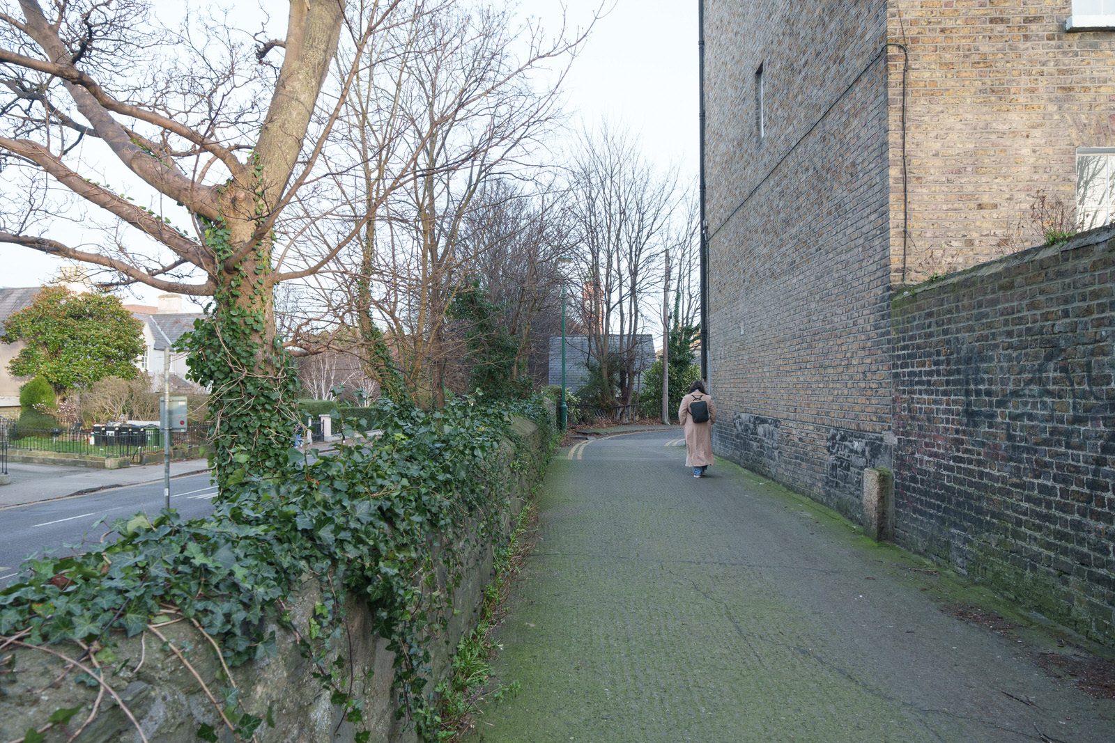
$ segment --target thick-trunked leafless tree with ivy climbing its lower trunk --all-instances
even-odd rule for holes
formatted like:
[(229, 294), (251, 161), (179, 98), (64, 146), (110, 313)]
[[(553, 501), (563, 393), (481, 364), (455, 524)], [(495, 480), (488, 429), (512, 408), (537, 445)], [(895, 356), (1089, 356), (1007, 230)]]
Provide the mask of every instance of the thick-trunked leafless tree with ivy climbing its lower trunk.
[[(349, 18), (346, 27), (355, 48), (362, 49), (398, 4), (398, 0), (375, 3), (370, 10), (357, 11), (358, 19)], [(263, 62), (271, 50), (283, 53), (278, 75), (270, 81), (263, 74), (250, 80), (259, 84), (263, 100), (268, 100), (270, 85), (270, 101), (258, 127), (251, 123), (254, 101), (230, 109), (232, 94), (243, 98), (241, 88), (248, 85), (236, 70), (252, 69), (235, 57), (241, 49), (234, 42), (224, 50), (227, 75), (219, 70), (210, 80), (188, 77), (201, 80), (201, 87), (185, 92), (173, 84), (158, 87), (153, 82), (155, 87), (132, 94), (138, 99), (127, 99), (112, 91), (129, 90), (130, 62), (144, 53), (145, 40), (154, 38), (144, 37), (142, 3), (125, 0), (88, 12), (69, 3), (56, 4), (51, 10), (57, 14), (50, 19), (36, 0), (19, 0), (19, 7), (21, 20), (0, 16), (0, 62), (4, 63), (0, 82), (28, 106), (41, 108), (41, 117), (31, 124), (13, 124), (21, 111), (12, 114), (10, 106), (3, 109), (0, 117), (10, 117), (6, 124), (12, 124), (3, 130), (13, 136), (0, 137), (0, 149), (23, 168), (29, 180), (49, 177), (153, 238), (169, 256), (153, 265), (149, 257), (132, 255), (115, 241), (77, 248), (28, 233), (26, 228), (36, 224), (29, 216), (48, 212), (47, 205), (33, 201), (22, 207), (22, 215), (0, 214), (0, 242), (100, 266), (117, 277), (117, 285), (142, 282), (163, 291), (212, 296), (206, 319), (185, 344), (192, 375), (213, 395), (209, 404), (211, 453), (222, 492), (249, 475), (282, 473), (294, 422), (294, 385), (275, 338), (273, 290), (279, 281), (320, 270), (331, 256), (282, 274), (272, 256), (274, 229), (283, 209), (310, 179), (337, 118), (336, 106), (332, 111), (318, 110), (318, 98), (337, 55), (347, 6), (337, 0), (290, 2), (285, 39), (261, 43), (255, 55), (255, 61)], [(178, 38), (187, 45), (188, 38)], [(204, 58), (197, 65), (184, 55), (185, 63), (195, 66), (191, 72), (206, 65), (213, 69), (211, 49), (187, 45), (185, 51)], [(96, 62), (88, 63), (90, 59)], [(87, 63), (91, 71), (85, 69)], [(98, 80), (94, 74), (106, 79)], [(341, 99), (353, 75), (349, 70), (339, 76)], [(67, 97), (71, 105), (65, 102)], [(178, 115), (172, 101), (181, 107)], [(198, 115), (198, 110), (204, 113)], [(311, 124), (314, 137), (308, 141)], [(244, 134), (253, 130), (254, 141)], [(154, 203), (168, 198), (184, 207), (196, 236), (171, 226), (169, 217), (134, 197), (84, 176), (83, 167), (90, 166), (75, 148), (86, 138), (103, 145), (103, 156), (115, 157), (152, 189)], [(242, 158), (237, 153), (243, 150), (251, 154)], [(185, 281), (198, 275), (201, 283)]]

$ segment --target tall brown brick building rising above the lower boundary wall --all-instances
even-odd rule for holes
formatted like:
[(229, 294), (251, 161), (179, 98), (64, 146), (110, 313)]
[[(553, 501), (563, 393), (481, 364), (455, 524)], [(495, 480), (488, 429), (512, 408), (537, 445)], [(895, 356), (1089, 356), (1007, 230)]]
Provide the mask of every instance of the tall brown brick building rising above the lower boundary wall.
[(854, 512), (893, 450), (892, 290), (1044, 242), (1039, 192), (1109, 218), (1105, 1), (705, 0), (723, 453)]

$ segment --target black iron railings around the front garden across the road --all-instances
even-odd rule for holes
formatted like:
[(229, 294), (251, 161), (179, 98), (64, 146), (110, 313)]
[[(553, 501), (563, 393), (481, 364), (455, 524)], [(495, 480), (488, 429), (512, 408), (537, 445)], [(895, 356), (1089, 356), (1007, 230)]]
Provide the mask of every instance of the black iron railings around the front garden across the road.
[[(196, 443), (190, 431), (173, 431), (171, 444)], [(0, 418), (0, 442), (12, 452), (57, 452), (87, 457), (120, 457), (136, 461), (145, 453), (163, 450), (158, 426), (103, 424), (81, 427), (29, 427)]]

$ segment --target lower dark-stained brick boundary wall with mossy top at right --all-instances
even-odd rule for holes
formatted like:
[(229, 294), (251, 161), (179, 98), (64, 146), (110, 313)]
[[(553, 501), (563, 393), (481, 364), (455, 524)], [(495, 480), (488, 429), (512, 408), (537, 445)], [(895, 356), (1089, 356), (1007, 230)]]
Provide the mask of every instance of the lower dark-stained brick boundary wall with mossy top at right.
[(1115, 228), (894, 300), (895, 540), (1115, 639)]

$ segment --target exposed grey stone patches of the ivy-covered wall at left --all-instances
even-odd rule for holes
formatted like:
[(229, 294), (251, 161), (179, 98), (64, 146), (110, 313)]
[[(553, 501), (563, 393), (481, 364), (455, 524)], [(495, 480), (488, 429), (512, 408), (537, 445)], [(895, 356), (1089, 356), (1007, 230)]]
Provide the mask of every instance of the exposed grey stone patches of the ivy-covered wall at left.
[[(512, 508), (504, 515), (501, 534), (482, 534), (476, 525), (472, 536), (459, 546), (465, 551), (462, 553), (460, 575), (454, 576), (458, 583), (450, 602), (453, 608), (442, 617), (444, 632), (428, 642), (432, 653), (429, 677), (433, 680), (428, 690), (448, 675), (457, 642), (476, 625), (484, 587), (492, 579), (493, 546), (510, 535), (523, 499), (541, 478), (547, 442), (542, 440), (542, 433), (533, 423), (516, 420), (514, 426), (534, 454), (530, 458), (533, 466), (514, 471), (510, 467), (514, 447), (511, 442), (505, 443), (501, 454), (505, 463), (503, 471), (512, 483), (511, 491), (518, 497), (512, 499)], [(444, 588), (446, 576), (439, 575), (437, 579)], [(304, 628), (309, 625), (320, 598), (321, 586), (317, 580), (307, 581), (297, 592), (288, 605), (293, 626)], [(413, 725), (395, 715), (398, 700), (391, 693), (394, 655), (387, 649), (387, 641), (371, 633), (372, 617), (365, 603), (349, 600), (346, 612), (346, 632), (339, 648), (347, 659), (342, 683), (352, 684), (352, 695), (359, 700), (366, 729), (371, 732), (370, 740), (416, 740)], [(168, 620), (173, 618), (167, 617)], [(300, 653), (289, 629), (280, 626), (272, 629), (278, 653), (232, 669), (244, 708), (261, 716), (266, 714), (270, 721), (256, 731), (258, 740), (282, 743), (353, 741), (356, 729), (343, 720), (342, 710), (332, 704), (330, 693), (316, 677), (322, 668)], [(98, 654), (96, 663), (104, 668), (104, 677), (135, 715), (148, 741), (195, 743), (201, 740), (197, 730), (202, 724), (216, 730), (222, 741), (232, 740), (198, 683), (198, 678), (204, 680), (214, 692), (227, 686), (221, 680), (217, 657), (209, 641), (181, 620), (162, 627), (161, 632), (183, 653), (190, 667), (148, 629), (133, 638), (116, 637), (112, 655)], [(81, 654), (81, 648), (49, 649), (80, 657), (86, 668), (95, 663)], [(28, 729), (42, 725), (57, 710), (81, 706), (68, 731), (56, 727), (47, 732), (48, 742), (66, 741), (68, 733), (76, 731), (88, 716), (97, 697), (96, 684), (90, 687), (75, 683), (76, 672), (65, 673), (59, 658), (43, 651), (13, 652), (7, 647), (0, 651), (0, 661), (3, 662), (0, 666), (0, 740), (22, 740)], [(99, 715), (77, 740), (107, 743), (138, 741), (139, 737), (120, 705), (105, 694)]]

